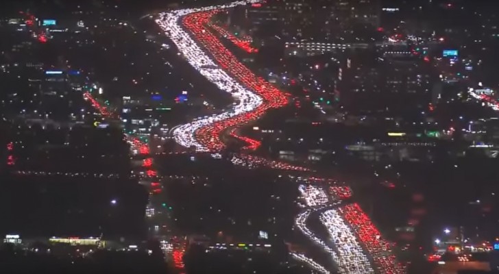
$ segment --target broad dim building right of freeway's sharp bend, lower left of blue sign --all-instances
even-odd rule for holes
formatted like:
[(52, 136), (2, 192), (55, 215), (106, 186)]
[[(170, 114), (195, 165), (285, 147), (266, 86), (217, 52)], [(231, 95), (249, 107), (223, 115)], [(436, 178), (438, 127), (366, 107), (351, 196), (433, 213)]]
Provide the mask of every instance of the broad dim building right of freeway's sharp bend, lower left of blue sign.
[(363, 110), (401, 110), (406, 108), (406, 100), (415, 107), (426, 106), (436, 78), (428, 64), (411, 59), (378, 58), (369, 64), (352, 59), (350, 67), (343, 64), (340, 69), (337, 89), (341, 103)]

